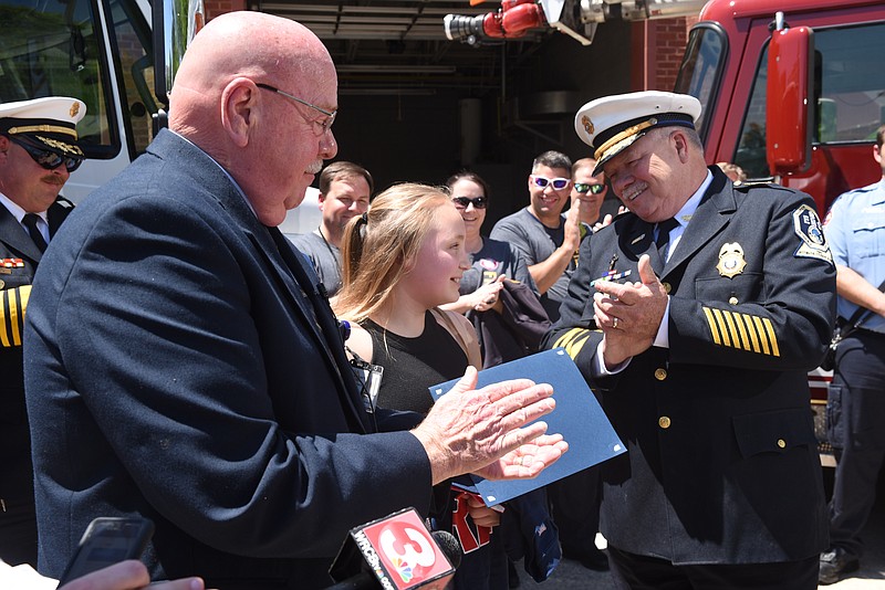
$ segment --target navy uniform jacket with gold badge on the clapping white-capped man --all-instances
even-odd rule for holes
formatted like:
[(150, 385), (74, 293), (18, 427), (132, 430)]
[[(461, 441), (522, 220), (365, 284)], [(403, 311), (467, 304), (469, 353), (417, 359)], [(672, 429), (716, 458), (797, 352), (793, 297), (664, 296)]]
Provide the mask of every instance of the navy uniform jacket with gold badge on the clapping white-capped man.
[[(806, 371), (830, 340), (835, 270), (813, 201), (714, 180), (666, 266), (633, 213), (593, 234), (548, 346), (564, 346), (628, 452), (603, 464), (602, 533), (677, 565), (796, 560), (826, 548)], [(594, 379), (590, 282), (652, 256), (669, 349)]]

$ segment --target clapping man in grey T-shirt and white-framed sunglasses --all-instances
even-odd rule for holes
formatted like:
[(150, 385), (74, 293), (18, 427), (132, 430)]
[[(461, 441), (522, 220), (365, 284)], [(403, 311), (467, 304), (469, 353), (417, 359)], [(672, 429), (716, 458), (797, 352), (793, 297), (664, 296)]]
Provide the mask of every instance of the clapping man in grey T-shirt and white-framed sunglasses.
[(555, 322), (577, 267), (577, 246), (587, 233), (581, 231), (576, 208), (562, 214), (571, 199), (572, 160), (559, 151), (544, 151), (532, 162), (528, 182), (529, 206), (498, 221), (490, 236), (520, 251), (541, 293), (541, 304)]

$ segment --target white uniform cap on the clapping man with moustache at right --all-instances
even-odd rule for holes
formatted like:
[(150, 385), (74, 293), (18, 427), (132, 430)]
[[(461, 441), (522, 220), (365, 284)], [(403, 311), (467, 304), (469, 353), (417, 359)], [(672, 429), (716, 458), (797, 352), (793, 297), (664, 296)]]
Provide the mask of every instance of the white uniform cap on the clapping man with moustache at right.
[(645, 91), (596, 98), (574, 116), (577, 137), (593, 148), (593, 176), (614, 156), (656, 127), (695, 128), (700, 102), (688, 94)]

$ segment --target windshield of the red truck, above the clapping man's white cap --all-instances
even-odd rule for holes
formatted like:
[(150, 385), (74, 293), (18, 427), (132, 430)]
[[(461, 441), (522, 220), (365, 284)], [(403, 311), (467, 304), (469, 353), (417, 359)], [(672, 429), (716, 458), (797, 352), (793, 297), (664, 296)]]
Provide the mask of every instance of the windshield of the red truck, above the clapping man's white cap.
[(697, 120), (698, 133), (706, 138), (708, 105), (714, 104), (719, 73), (725, 57), (725, 35), (717, 27), (697, 27), (688, 39), (675, 92), (690, 94), (702, 106)]

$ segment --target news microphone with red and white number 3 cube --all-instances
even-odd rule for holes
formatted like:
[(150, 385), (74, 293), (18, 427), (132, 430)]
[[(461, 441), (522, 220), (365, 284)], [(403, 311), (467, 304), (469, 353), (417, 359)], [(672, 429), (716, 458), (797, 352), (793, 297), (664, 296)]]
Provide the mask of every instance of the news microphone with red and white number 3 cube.
[(352, 528), (329, 575), (329, 590), (444, 590), (461, 562), (450, 533), (427, 530), (415, 508)]

